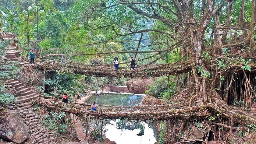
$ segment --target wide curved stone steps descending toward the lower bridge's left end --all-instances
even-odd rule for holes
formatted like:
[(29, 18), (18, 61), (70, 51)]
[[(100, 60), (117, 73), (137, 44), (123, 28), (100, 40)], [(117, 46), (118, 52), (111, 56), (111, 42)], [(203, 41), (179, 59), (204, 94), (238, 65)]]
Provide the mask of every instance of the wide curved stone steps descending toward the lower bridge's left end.
[(31, 90), (30, 87), (24, 86), (24, 84), (19, 79), (11, 79), (8, 82), (9, 90), (14, 94), (18, 99), (16, 104), (21, 104), (29, 100), (40, 97), (40, 94), (34, 90)]

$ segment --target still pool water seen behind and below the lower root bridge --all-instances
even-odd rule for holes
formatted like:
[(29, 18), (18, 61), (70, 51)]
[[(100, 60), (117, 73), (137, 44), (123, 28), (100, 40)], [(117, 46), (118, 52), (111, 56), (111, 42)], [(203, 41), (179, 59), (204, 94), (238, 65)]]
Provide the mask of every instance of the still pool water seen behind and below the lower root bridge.
[[(140, 95), (129, 94), (103, 94), (91, 96), (86, 103), (91, 104), (93, 101), (96, 104), (117, 105), (117, 106), (137, 106), (142, 102)], [(118, 129), (119, 120), (109, 121), (105, 128), (105, 137), (117, 144), (154, 144), (156, 142), (156, 129), (152, 128), (146, 122), (124, 122), (123, 130)], [(138, 136), (140, 129), (136, 125), (144, 126), (144, 135)]]

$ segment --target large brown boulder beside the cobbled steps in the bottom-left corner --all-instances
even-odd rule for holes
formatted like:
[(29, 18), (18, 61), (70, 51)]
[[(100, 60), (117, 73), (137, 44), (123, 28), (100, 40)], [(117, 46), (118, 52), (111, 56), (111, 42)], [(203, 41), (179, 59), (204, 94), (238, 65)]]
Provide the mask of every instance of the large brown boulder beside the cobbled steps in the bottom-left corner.
[(0, 138), (15, 143), (24, 142), (29, 136), (29, 127), (23, 122), (18, 111), (9, 110), (4, 128), (0, 127)]

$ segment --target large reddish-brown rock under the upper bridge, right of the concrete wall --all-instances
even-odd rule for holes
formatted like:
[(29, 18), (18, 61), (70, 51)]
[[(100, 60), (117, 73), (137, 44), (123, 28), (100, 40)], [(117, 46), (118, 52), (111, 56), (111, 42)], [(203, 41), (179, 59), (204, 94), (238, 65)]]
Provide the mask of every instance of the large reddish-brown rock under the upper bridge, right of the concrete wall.
[(130, 93), (140, 93), (144, 94), (148, 90), (147, 86), (154, 82), (154, 78), (150, 79), (130, 79), (127, 81), (126, 86)]

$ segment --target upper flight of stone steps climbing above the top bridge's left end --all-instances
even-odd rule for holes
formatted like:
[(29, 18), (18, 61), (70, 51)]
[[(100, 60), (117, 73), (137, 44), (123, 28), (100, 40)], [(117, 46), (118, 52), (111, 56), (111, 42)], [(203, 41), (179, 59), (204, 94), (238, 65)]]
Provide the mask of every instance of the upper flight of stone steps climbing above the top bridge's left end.
[(7, 58), (7, 61), (20, 62), (15, 55), (15, 52), (18, 50), (18, 45), (13, 40), (11, 40), (13, 37), (16, 38), (15, 35), (12, 35), (10, 33), (5, 33), (4, 35), (2, 35), (2, 38), (4, 38), (4, 40), (10, 41), (10, 43), (8, 44), (9, 50), (5, 51), (5, 57)]

